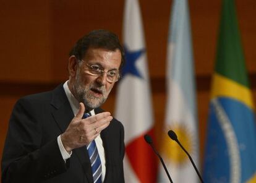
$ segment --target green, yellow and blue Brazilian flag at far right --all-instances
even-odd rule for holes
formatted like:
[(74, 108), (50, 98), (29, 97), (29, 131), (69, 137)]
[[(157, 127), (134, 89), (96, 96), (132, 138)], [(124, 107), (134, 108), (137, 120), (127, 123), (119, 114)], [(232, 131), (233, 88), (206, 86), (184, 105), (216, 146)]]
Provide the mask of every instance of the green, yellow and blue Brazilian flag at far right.
[(205, 145), (205, 182), (256, 182), (255, 106), (233, 0), (223, 0)]

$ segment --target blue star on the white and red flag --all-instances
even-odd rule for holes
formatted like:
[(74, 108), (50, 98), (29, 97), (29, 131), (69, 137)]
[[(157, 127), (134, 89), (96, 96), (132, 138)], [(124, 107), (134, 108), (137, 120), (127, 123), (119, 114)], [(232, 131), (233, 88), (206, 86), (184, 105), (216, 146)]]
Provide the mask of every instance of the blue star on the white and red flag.
[(130, 51), (124, 46), (124, 53), (126, 56), (126, 63), (124, 64), (124, 67), (122, 67), (122, 77), (124, 77), (127, 74), (134, 75), (139, 78), (143, 78), (140, 74), (139, 70), (135, 66), (135, 62), (139, 59), (139, 57), (144, 52), (144, 49), (140, 49), (137, 51)]

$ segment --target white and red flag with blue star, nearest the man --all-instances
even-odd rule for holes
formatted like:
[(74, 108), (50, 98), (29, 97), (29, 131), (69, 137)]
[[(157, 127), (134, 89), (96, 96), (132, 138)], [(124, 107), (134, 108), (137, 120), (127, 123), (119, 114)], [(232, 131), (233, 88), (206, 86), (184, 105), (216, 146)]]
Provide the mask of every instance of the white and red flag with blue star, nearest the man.
[(116, 118), (124, 124), (126, 182), (156, 182), (156, 161), (145, 142), (153, 135), (153, 111), (148, 77), (142, 18), (137, 0), (127, 0), (124, 9), (124, 49), (126, 64), (117, 86)]

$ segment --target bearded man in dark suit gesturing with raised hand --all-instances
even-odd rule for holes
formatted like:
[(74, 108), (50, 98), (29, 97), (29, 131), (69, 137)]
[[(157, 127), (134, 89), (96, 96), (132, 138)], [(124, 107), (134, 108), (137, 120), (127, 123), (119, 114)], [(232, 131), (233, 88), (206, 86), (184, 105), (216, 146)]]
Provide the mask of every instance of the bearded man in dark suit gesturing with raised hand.
[(70, 51), (69, 80), (14, 106), (2, 156), (6, 182), (124, 182), (124, 129), (99, 107), (119, 79), (124, 51), (95, 30)]

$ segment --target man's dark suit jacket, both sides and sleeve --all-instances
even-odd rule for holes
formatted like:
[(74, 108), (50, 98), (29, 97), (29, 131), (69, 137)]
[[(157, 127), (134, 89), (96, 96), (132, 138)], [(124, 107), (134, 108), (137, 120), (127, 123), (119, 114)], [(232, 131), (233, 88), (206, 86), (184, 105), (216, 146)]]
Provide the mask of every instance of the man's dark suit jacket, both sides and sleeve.
[[(102, 109), (95, 109), (101, 113)], [(73, 150), (66, 163), (57, 137), (74, 117), (62, 85), (21, 98), (14, 106), (2, 156), (2, 183), (93, 182), (85, 147)], [(106, 157), (105, 182), (124, 182), (124, 128), (113, 119), (101, 132)]]

